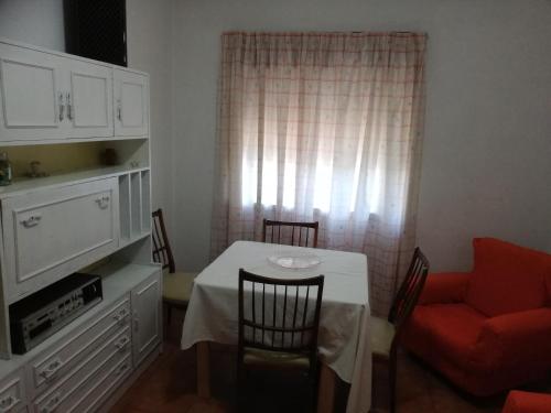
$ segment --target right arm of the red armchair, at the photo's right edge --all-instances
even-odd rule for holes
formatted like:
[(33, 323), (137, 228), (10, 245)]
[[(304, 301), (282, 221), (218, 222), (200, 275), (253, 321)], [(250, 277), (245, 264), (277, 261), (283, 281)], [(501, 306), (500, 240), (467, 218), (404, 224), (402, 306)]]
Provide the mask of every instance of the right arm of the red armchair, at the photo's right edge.
[(504, 314), (484, 322), (473, 351), (482, 369), (551, 368), (551, 308)]

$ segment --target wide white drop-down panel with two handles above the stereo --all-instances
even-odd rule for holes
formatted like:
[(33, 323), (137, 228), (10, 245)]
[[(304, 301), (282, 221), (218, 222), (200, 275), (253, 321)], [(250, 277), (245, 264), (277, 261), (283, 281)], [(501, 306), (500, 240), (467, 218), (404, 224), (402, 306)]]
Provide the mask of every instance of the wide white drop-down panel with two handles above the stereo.
[(10, 302), (115, 251), (117, 183), (100, 180), (2, 202)]

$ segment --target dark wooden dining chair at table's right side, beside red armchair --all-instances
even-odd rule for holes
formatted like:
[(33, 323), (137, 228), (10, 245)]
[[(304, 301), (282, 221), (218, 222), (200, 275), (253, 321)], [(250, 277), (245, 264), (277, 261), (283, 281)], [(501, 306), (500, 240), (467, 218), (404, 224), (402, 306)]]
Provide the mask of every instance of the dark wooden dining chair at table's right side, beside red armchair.
[(403, 325), (417, 305), (423, 290), (429, 260), (415, 248), (406, 278), (398, 290), (387, 319), (371, 316), (371, 354), (374, 365), (386, 365), (389, 381), (390, 412), (396, 412), (397, 349)]

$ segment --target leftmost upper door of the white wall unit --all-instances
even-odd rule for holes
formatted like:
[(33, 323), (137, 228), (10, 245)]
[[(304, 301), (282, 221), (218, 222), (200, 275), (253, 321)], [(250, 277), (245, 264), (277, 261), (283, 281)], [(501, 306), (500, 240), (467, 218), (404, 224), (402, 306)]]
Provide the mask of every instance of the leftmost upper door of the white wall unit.
[(60, 139), (62, 58), (0, 43), (0, 142)]

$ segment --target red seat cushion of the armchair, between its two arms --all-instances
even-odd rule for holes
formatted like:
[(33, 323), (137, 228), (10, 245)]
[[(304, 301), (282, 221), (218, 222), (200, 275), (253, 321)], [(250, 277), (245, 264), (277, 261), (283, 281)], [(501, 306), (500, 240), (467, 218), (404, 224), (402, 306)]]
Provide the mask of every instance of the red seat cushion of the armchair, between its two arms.
[(469, 363), (475, 344), (487, 317), (465, 304), (418, 305), (408, 329), (424, 341), (430, 356), (436, 351), (458, 367)]

